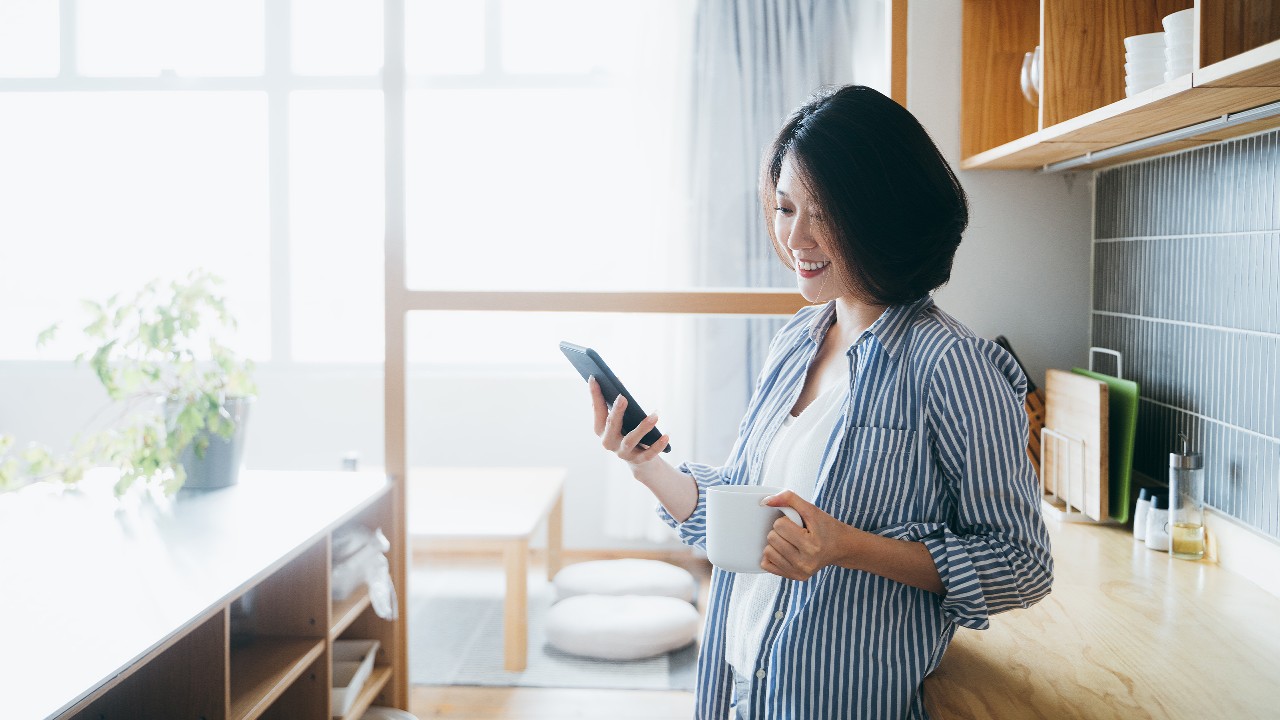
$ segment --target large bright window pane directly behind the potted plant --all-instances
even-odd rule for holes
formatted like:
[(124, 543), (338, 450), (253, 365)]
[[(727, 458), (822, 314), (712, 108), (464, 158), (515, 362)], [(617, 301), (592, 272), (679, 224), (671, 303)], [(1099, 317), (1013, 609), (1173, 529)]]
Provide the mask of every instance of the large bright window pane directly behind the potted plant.
[(0, 357), (49, 356), (37, 333), (81, 299), (196, 266), (225, 281), (237, 348), (268, 356), (264, 95), (4, 92), (0, 118)]

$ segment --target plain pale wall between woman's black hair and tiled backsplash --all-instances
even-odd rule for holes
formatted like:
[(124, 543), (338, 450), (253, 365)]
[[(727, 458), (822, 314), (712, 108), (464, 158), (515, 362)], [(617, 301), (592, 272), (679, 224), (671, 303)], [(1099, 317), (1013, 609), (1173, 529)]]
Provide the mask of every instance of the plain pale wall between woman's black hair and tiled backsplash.
[[(911, 0), (908, 109), (960, 167), (960, 10)], [(1009, 82), (1016, 83), (1011, 77)], [(938, 305), (983, 337), (1004, 334), (1027, 373), (1088, 361), (1092, 173), (968, 170), (970, 224)]]

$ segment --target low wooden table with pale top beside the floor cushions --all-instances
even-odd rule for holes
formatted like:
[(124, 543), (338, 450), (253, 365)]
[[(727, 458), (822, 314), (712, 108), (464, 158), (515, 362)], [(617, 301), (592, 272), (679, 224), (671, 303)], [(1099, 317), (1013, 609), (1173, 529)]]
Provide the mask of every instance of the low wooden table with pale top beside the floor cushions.
[(547, 523), (547, 578), (561, 568), (563, 468), (415, 468), (408, 534), (415, 547), (498, 550), (507, 569), (503, 667), (529, 657), (529, 541)]

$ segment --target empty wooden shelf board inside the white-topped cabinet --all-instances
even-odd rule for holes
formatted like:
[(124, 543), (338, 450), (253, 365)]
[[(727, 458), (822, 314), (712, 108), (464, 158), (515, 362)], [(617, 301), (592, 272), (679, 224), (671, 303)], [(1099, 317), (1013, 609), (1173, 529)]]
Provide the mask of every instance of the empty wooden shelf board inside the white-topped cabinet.
[(230, 656), (230, 720), (252, 720), (324, 653), (324, 639), (255, 638)]

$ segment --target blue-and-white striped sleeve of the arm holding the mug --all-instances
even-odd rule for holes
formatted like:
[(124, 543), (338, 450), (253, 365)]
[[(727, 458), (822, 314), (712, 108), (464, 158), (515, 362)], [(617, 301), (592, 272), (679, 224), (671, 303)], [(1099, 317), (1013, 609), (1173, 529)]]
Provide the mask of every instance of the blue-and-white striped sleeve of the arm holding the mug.
[(1050, 593), (1053, 559), (1027, 456), (1027, 379), (998, 346), (956, 342), (938, 361), (925, 401), (931, 450), (947, 486), (947, 520), (906, 534), (928, 548), (947, 619), (986, 629), (988, 618)]

